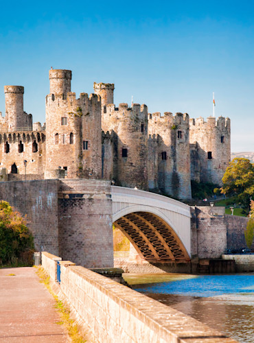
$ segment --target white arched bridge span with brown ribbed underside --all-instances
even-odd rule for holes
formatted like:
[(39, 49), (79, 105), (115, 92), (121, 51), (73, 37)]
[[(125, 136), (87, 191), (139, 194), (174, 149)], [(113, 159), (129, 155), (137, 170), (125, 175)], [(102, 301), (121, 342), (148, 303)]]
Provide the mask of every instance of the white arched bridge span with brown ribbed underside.
[(190, 259), (189, 206), (165, 196), (111, 186), (113, 224), (150, 262)]

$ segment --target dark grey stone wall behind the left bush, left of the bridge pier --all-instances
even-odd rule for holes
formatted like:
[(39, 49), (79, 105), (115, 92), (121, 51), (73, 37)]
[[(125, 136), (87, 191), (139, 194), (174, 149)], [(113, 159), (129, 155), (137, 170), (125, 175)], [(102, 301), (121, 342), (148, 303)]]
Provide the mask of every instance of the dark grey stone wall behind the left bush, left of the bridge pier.
[(58, 180), (0, 182), (0, 199), (27, 216), (37, 251), (58, 254)]

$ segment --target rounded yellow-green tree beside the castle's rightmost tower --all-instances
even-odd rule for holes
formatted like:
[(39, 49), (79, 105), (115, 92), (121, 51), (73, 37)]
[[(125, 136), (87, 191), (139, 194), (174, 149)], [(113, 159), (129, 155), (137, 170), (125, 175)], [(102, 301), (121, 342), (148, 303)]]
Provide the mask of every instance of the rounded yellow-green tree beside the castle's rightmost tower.
[(222, 193), (226, 196), (236, 196), (244, 206), (249, 206), (254, 195), (254, 167), (247, 158), (234, 158), (229, 163), (222, 178)]

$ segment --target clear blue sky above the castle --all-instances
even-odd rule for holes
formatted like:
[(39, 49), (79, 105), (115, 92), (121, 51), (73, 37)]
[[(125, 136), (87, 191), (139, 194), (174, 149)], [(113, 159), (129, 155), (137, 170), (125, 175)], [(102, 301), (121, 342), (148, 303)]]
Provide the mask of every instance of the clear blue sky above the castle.
[(115, 83), (115, 104), (231, 118), (233, 152), (254, 151), (253, 1), (10, 1), (1, 3), (3, 86), (25, 86), (45, 121), (48, 71), (71, 69), (72, 91)]

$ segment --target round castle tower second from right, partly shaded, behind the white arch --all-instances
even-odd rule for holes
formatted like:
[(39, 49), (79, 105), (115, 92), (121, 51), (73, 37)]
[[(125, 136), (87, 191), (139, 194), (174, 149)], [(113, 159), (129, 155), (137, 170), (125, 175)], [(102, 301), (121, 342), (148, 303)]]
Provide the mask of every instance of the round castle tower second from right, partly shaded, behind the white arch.
[(189, 116), (182, 113), (176, 113), (175, 117), (172, 113), (164, 113), (164, 116), (153, 113), (148, 117), (148, 132), (151, 137), (157, 135), (157, 151), (154, 139), (149, 141), (152, 154), (157, 154), (155, 158), (149, 158), (149, 163), (152, 163), (148, 176), (150, 187), (158, 187), (163, 193), (176, 198), (191, 198)]

